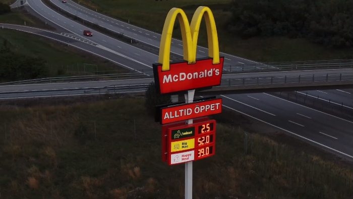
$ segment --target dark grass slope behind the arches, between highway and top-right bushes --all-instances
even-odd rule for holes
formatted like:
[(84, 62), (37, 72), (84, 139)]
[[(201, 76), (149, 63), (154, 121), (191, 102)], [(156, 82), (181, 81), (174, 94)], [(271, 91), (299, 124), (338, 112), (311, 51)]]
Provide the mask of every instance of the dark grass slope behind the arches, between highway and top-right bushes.
[[(77, 0), (75, 2), (78, 2)], [(334, 49), (314, 44), (301, 38), (287, 37), (261, 37), (242, 39), (226, 31), (227, 20), (231, 13), (230, 0), (216, 1), (139, 1), (122, 0), (118, 2), (101, 0), (80, 0), (80, 4), (92, 10), (122, 19), (126, 22), (145, 27), (149, 30), (162, 32), (165, 16), (170, 8), (182, 8), (188, 15), (189, 22), (197, 5), (211, 8), (218, 32), (221, 52), (237, 55), (260, 62), (280, 61), (306, 61), (306, 60), (332, 60), (351, 59), (353, 49)], [(148, 20), (141, 20), (148, 19)], [(177, 27), (177, 26), (175, 26)], [(207, 46), (204, 23), (201, 24), (199, 44)], [(175, 37), (180, 37), (179, 26), (173, 32)]]

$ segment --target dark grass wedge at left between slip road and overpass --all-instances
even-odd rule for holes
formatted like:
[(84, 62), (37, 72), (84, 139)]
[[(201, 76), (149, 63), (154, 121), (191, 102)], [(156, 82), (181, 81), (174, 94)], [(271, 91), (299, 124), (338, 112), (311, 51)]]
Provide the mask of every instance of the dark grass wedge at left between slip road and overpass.
[(11, 51), (46, 60), (49, 76), (89, 75), (101, 71), (127, 72), (107, 60), (68, 47), (44, 37), (15, 30), (0, 29), (0, 44), (8, 41)]

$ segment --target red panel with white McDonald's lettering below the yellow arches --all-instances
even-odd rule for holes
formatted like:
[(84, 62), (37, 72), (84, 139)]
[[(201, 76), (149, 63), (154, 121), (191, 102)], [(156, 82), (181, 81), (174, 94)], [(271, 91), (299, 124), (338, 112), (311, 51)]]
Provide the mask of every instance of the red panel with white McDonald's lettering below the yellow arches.
[(213, 64), (212, 60), (200, 59), (194, 64), (170, 63), (168, 71), (162, 71), (161, 64), (153, 64), (156, 88), (159, 88), (161, 94), (166, 94), (218, 86), (221, 82), (224, 57), (219, 58), (219, 64)]

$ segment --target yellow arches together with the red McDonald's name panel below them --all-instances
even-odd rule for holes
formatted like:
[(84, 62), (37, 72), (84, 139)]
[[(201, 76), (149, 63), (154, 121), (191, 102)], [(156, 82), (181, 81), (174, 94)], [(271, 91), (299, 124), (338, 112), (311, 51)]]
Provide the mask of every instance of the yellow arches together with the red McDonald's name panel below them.
[[(208, 57), (196, 59), (197, 39), (202, 19), (205, 19)], [(170, 63), (170, 44), (175, 20), (179, 20), (183, 40), (183, 62)], [(217, 29), (208, 7), (197, 8), (189, 24), (185, 12), (172, 8), (164, 22), (158, 64), (153, 64), (154, 80), (161, 94), (220, 85), (223, 57), (219, 57)]]

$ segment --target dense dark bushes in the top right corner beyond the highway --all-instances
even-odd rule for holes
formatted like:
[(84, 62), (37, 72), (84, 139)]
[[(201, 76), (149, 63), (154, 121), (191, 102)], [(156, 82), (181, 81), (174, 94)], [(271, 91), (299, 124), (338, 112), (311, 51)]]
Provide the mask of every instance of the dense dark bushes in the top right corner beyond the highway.
[(237, 0), (228, 31), (242, 37), (306, 37), (336, 47), (353, 46), (353, 2), (348, 0)]

